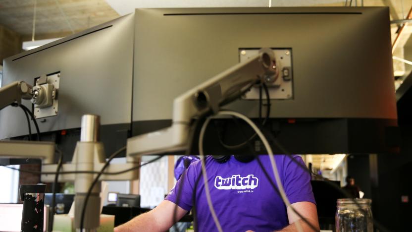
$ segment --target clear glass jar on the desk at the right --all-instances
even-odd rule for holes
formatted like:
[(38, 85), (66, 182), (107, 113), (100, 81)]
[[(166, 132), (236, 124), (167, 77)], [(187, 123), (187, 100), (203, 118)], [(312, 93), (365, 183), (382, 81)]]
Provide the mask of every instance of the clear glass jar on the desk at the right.
[(373, 232), (371, 203), (371, 199), (338, 199), (336, 232)]

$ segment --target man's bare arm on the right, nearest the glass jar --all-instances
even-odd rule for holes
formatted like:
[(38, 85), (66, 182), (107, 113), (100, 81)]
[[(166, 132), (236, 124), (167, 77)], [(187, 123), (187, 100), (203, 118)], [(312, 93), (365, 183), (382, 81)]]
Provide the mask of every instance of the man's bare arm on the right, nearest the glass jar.
[[(291, 204), (291, 206), (298, 212), (300, 213), (310, 224), (312, 224), (315, 228), (316, 231), (319, 231), (319, 222), (317, 219), (317, 212), (316, 212), (316, 205), (308, 202), (308, 201), (303, 201), (303, 202), (296, 202)], [(289, 219), (289, 226), (283, 228), (281, 232), (295, 232), (297, 231), (297, 225), (296, 222), (299, 222), (301, 224), (301, 227), (304, 232), (312, 232), (313, 229), (305, 223), (297, 214), (293, 212), (291, 207), (288, 207), (288, 219)]]

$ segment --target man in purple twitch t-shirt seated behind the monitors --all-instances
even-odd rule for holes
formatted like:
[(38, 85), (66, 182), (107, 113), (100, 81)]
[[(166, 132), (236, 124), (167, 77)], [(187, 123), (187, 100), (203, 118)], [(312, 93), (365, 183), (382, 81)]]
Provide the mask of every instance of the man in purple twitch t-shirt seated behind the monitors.
[[(276, 184), (269, 157), (259, 158)], [(304, 164), (299, 156), (294, 159)], [(292, 207), (319, 228), (310, 175), (288, 156), (277, 155), (275, 161)], [(257, 160), (242, 163), (231, 156), (227, 162), (218, 163), (208, 156), (206, 172), (213, 208), (223, 231), (296, 231), (297, 221), (305, 232), (312, 231), (292, 209), (286, 208)], [(201, 161), (192, 163), (156, 208), (115, 228), (115, 231), (166, 231), (173, 225), (176, 204), (177, 218), (183, 217), (195, 204), (199, 231), (217, 231), (207, 205), (203, 177), (196, 186), (201, 174)]]

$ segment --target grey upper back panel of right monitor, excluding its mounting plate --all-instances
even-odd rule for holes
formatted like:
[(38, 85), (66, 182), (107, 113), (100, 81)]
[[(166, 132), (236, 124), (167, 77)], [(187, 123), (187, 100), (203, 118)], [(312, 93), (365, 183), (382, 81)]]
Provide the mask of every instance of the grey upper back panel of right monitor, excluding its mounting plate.
[(170, 119), (174, 98), (262, 47), (292, 50), (293, 98), (271, 117), (396, 121), (389, 26), (386, 7), (136, 9), (133, 121)]

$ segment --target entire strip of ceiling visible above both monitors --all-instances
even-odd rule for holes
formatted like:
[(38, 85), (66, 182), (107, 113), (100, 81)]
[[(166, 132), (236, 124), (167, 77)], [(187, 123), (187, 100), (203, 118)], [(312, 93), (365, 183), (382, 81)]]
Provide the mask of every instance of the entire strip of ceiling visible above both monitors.
[[(401, 19), (412, 0), (348, 0), (352, 5), (390, 6), (391, 18)], [(69, 35), (107, 22), (138, 7), (344, 6), (344, 0), (0, 0), (0, 24), (26, 38)], [(48, 36), (50, 35), (50, 36)], [(37, 37), (36, 37), (37, 36)]]

